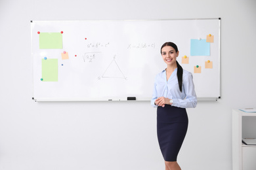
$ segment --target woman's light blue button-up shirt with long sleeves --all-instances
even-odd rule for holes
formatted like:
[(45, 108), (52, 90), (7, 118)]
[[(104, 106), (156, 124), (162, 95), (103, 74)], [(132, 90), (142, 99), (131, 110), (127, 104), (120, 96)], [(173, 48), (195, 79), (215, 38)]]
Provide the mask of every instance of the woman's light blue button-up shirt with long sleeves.
[(179, 89), (177, 68), (173, 71), (168, 81), (165, 70), (156, 75), (154, 91), (151, 99), (151, 105), (153, 107), (158, 107), (154, 104), (158, 97), (173, 99), (172, 106), (175, 107), (196, 107), (198, 100), (196, 97), (192, 73), (183, 69), (182, 92)]

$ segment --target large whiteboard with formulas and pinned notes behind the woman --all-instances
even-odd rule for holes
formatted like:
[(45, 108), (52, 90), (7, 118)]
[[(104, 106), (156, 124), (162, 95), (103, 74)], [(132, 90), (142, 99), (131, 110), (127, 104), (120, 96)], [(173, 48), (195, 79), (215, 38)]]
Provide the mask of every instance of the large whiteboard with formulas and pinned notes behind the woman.
[[(167, 41), (177, 44), (177, 61), (193, 74), (198, 99), (221, 96), (220, 18), (32, 21), (31, 30), (36, 101), (150, 100), (154, 78), (166, 68), (160, 48)], [(209, 55), (194, 56), (192, 39), (209, 34)]]

